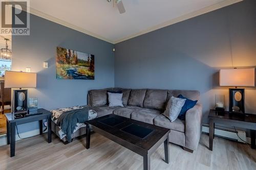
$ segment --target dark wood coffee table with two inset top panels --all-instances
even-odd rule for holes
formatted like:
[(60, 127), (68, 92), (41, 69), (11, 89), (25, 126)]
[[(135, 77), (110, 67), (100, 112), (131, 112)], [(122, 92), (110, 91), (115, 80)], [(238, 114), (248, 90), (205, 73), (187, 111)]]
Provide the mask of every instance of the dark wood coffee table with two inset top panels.
[(87, 142), (90, 148), (91, 129), (123, 147), (143, 156), (143, 167), (150, 169), (150, 156), (164, 143), (165, 162), (169, 163), (169, 129), (146, 124), (115, 114), (86, 122)]

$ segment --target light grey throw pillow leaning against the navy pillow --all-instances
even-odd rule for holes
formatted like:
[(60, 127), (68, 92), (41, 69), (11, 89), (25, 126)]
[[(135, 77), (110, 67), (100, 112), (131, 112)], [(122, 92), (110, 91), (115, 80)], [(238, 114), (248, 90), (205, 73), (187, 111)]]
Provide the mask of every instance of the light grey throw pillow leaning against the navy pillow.
[(185, 104), (185, 101), (186, 99), (175, 98), (174, 96), (172, 96), (172, 98), (170, 98), (167, 103), (163, 115), (165, 115), (170, 120), (170, 122), (174, 122), (179, 116), (180, 111)]

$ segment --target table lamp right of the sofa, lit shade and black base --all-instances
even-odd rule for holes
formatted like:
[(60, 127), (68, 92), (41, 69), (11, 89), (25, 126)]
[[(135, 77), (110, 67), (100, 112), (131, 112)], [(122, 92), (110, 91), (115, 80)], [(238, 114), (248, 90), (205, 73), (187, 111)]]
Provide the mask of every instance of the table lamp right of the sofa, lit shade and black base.
[(244, 88), (255, 86), (255, 68), (233, 68), (220, 70), (220, 86), (234, 86), (229, 88), (229, 112), (245, 113)]

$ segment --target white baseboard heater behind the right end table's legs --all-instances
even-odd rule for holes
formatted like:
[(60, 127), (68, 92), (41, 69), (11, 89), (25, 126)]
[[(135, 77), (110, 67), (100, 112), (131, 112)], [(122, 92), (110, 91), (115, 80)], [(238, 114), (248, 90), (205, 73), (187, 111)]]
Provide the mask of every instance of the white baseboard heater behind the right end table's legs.
[[(203, 126), (202, 132), (209, 134), (209, 125), (203, 124), (202, 126)], [(242, 140), (238, 137), (237, 133)], [(223, 138), (227, 138), (227, 139), (231, 139), (231, 140), (236, 140), (236, 141), (245, 143), (244, 142), (244, 141), (246, 141), (245, 131), (237, 130), (237, 133), (236, 133), (236, 130), (234, 130), (234, 129), (228, 129), (228, 128), (222, 128), (222, 127), (215, 126), (215, 136), (223, 137)]]

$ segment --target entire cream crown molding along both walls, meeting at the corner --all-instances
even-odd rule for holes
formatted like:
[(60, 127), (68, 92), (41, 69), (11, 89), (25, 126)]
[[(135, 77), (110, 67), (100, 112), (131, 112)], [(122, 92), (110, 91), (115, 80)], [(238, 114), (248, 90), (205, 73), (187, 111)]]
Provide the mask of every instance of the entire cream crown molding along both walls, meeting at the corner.
[(211, 5), (211, 6), (208, 6), (206, 8), (202, 8), (200, 10), (197, 10), (197, 11), (185, 14), (183, 16), (180, 16), (180, 17), (168, 20), (168, 21), (163, 22), (163, 23), (161, 23), (159, 25), (156, 25), (156, 26), (151, 27), (149, 29), (143, 30), (143, 31), (141, 31), (141, 32), (139, 32), (137, 34), (133, 34), (131, 36), (127, 36), (127, 37), (124, 37), (122, 39), (115, 40), (115, 41), (109, 40), (109, 39), (107, 39), (105, 37), (102, 37), (100, 35), (97, 35), (95, 33), (87, 31), (87, 30), (82, 29), (80, 27), (77, 27), (77, 26), (73, 25), (72, 23), (69, 23), (69, 22), (66, 22), (64, 20), (58, 19), (58, 18), (56, 18), (54, 16), (48, 15), (48, 14), (46, 14), (44, 12), (38, 11), (38, 10), (36, 10), (34, 8), (31, 8), (31, 7), (30, 7), (30, 13), (33, 14), (33, 15), (39, 16), (41, 18), (44, 18), (44, 19), (53, 21), (55, 23), (58, 23), (58, 24), (60, 24), (62, 26), (65, 26), (65, 27), (71, 28), (73, 30), (79, 31), (81, 33), (84, 33), (84, 34), (93, 36), (95, 38), (101, 39), (103, 41), (110, 42), (112, 44), (116, 44), (116, 43), (119, 43), (119, 42), (122, 42), (122, 41), (125, 41), (125, 40), (128, 40), (128, 39), (140, 36), (142, 34), (146, 34), (146, 33), (149, 33), (149, 32), (152, 32), (152, 31), (155, 31), (155, 30), (158, 30), (158, 29), (170, 26), (170, 25), (173, 25), (173, 24), (175, 24), (177, 22), (181, 22), (181, 21), (186, 20), (186, 19), (193, 18), (193, 17), (199, 16), (199, 15), (205, 14), (207, 12), (211, 12), (211, 11), (214, 11), (214, 10), (217, 10), (217, 9), (220, 9), (220, 8), (232, 5), (232, 4), (239, 3), (241, 1), (244, 1), (244, 0), (226, 0), (226, 1), (223, 1), (221, 3), (215, 4), (215, 5)]

